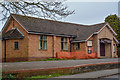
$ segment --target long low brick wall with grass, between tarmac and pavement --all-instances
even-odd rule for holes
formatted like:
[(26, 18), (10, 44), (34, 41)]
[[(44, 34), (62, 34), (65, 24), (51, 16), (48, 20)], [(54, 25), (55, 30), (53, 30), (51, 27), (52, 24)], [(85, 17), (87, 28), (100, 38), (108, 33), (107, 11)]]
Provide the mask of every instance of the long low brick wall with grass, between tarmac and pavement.
[(120, 68), (119, 62), (85, 64), (80, 66), (50, 68), (50, 69), (8, 71), (8, 72), (2, 72), (2, 77), (5, 78), (11, 74), (16, 78), (26, 78), (26, 77), (37, 76), (37, 75), (50, 75), (55, 73), (56, 74), (76, 74), (76, 73), (115, 69), (115, 68)]

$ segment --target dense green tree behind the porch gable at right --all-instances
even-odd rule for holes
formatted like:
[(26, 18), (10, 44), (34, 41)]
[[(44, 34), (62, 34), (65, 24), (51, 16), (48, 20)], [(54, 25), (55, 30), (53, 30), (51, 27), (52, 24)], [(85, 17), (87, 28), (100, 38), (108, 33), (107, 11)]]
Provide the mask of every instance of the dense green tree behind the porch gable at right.
[(105, 18), (105, 22), (108, 22), (110, 26), (113, 28), (113, 30), (118, 34), (116, 38), (120, 42), (120, 19), (119, 17), (115, 15), (109, 15)]

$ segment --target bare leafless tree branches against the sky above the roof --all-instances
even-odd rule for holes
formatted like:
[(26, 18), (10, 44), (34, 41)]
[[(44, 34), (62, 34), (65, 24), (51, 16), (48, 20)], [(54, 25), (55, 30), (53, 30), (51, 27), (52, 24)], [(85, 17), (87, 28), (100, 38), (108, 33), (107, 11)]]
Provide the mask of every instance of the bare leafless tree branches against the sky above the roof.
[(6, 20), (10, 13), (32, 15), (36, 17), (44, 17), (51, 19), (62, 19), (74, 13), (69, 11), (68, 7), (64, 5), (64, 1), (29, 1), (18, 0), (16, 2), (4, 1), (0, 2), (0, 13), (3, 15), (1, 20)]

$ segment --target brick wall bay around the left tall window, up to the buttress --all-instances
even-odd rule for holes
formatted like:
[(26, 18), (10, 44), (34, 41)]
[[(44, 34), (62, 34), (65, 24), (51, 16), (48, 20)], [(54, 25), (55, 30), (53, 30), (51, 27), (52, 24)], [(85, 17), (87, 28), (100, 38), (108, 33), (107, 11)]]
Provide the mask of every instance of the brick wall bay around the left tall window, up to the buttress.
[(47, 50), (39, 49), (39, 35), (29, 35), (29, 58), (43, 58), (43, 57), (52, 57), (53, 55), (53, 41), (52, 36), (47, 36)]

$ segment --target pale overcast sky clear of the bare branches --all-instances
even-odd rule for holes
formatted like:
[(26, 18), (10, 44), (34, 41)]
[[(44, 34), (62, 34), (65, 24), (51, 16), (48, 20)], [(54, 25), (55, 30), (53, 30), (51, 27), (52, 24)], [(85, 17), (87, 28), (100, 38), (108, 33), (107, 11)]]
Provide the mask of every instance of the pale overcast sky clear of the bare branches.
[[(69, 2), (66, 2), (66, 5), (68, 5), (68, 9), (75, 10), (75, 14), (68, 16), (62, 21), (91, 25), (104, 22), (105, 17), (110, 14), (118, 15), (119, 0), (103, 0), (104, 2), (102, 0), (97, 1), (84, 0), (83, 2), (83, 0), (70, 0)], [(2, 27), (3, 24), (0, 22), (0, 30), (2, 29)]]

